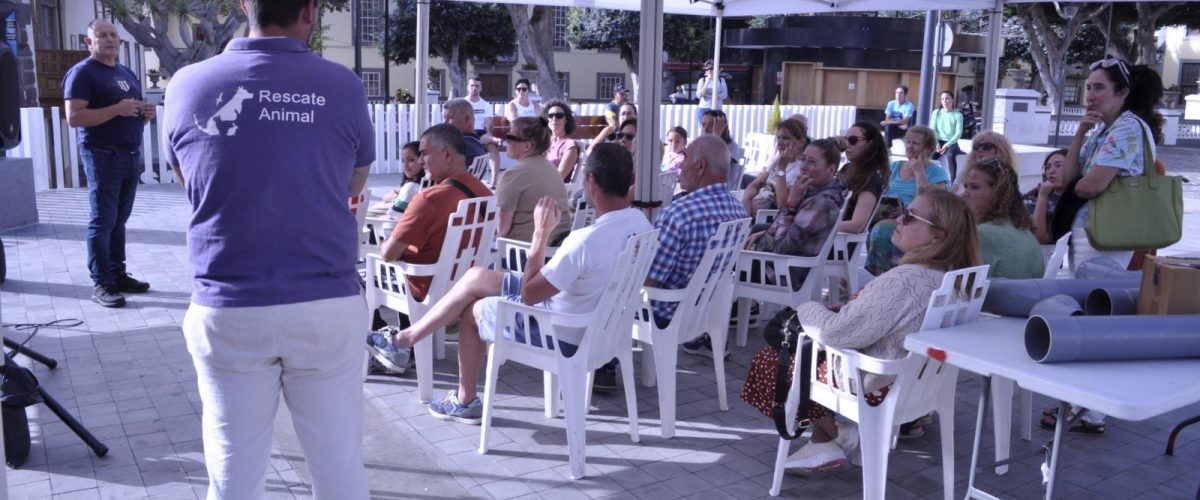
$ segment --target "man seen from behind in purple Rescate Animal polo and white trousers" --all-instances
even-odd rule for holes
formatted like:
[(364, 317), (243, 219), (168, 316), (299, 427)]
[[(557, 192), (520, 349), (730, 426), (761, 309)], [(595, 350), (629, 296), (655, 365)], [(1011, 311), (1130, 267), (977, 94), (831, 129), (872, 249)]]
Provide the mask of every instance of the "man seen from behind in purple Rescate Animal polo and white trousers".
[[(184, 335), (209, 498), (263, 494), (282, 391), (318, 499), (366, 499), (366, 305), (347, 200), (374, 161), (362, 82), (305, 43), (314, 2), (242, 0), (250, 37), (167, 88), (167, 158), (192, 204)], [(265, 430), (265, 432), (264, 432)]]

